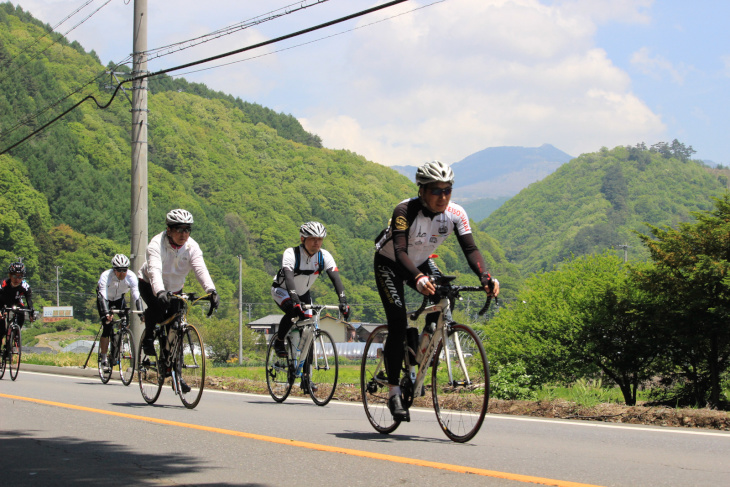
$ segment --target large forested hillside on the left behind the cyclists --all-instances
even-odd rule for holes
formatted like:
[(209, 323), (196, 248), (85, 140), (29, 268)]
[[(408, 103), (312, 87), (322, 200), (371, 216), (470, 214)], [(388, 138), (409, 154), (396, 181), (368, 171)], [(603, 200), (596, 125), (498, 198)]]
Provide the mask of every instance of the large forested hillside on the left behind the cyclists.
[[(0, 150), (84, 96), (109, 101), (109, 77), (93, 51), (42, 37), (46, 30), (20, 8), (0, 4)], [(316, 219), (327, 226), (324, 246), (350, 302), (360, 304), (355, 319), (379, 319), (372, 240), (415, 185), (357, 154), (319, 147), (291, 115), (184, 80), (151, 87), (149, 234), (163, 230), (172, 208), (194, 214), (193, 238), (221, 292), (221, 315), (237, 314), (238, 255), (244, 302), (257, 303), (252, 318), (276, 310), (269, 286), (281, 253), (298, 243), (302, 222)], [(77, 314), (95, 313), (99, 274), (115, 252), (129, 252), (129, 108), (123, 96), (103, 110), (87, 102), (0, 157), (0, 266), (23, 257), (46, 303), (55, 301), (60, 267), (61, 304)], [(493, 271), (512, 276), (512, 284), (503, 280), (509, 293), (517, 273), (495, 240), (480, 231), (476, 237)], [(469, 272), (455, 239), (440, 254), (449, 272)], [(328, 282), (314, 294), (336, 301)]]

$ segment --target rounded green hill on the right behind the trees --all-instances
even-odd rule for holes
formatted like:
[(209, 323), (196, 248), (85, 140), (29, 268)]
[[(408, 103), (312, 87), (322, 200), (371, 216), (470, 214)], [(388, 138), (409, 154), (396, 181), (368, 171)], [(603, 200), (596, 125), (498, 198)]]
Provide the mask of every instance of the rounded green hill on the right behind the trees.
[(646, 148), (583, 154), (522, 190), (479, 227), (496, 238), (525, 272), (549, 270), (572, 255), (628, 245), (644, 259), (635, 232), (645, 223), (676, 225), (707, 211), (727, 189), (727, 170), (689, 158), (676, 140)]

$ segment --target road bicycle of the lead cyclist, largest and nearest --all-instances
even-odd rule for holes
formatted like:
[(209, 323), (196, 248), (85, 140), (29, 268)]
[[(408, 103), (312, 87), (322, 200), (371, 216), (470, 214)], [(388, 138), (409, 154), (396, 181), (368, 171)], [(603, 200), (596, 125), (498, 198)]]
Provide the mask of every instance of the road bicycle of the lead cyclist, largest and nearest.
[[(484, 288), (452, 285), (453, 279), (455, 276), (432, 279), (436, 294), (425, 296), (421, 307), (410, 313), (411, 320), (418, 319), (422, 313), (434, 312), (438, 313), (438, 319), (435, 324), (426, 323), (420, 342), (417, 328), (406, 330), (400, 388), (405, 408), (410, 408), (416, 400), (420, 405), (429, 405), (425, 393), (430, 390), (430, 405), (441, 429), (451, 440), (463, 443), (477, 434), (487, 412), (489, 363), (474, 330), (451, 318), (453, 306), (461, 299), (462, 292), (484, 292)], [(487, 296), (480, 315), (487, 311), (490, 302), (491, 296)], [(388, 377), (383, 354), (387, 339), (387, 325), (372, 331), (365, 343), (360, 369), (365, 413), (375, 430), (383, 434), (392, 433), (401, 423), (388, 409)], [(427, 377), (429, 368), (430, 379)], [(419, 399), (421, 397), (423, 399)], [(410, 421), (410, 416), (406, 421)]]

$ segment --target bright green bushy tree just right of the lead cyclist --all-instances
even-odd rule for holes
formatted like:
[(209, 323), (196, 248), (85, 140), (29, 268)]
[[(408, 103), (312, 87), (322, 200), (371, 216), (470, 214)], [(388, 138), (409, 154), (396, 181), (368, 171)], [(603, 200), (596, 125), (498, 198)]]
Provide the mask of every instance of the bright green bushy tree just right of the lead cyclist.
[(644, 326), (645, 299), (613, 252), (566, 261), (529, 278), (490, 321), (489, 354), (497, 365), (524, 362), (538, 384), (603, 372), (633, 405), (661, 350), (656, 329)]

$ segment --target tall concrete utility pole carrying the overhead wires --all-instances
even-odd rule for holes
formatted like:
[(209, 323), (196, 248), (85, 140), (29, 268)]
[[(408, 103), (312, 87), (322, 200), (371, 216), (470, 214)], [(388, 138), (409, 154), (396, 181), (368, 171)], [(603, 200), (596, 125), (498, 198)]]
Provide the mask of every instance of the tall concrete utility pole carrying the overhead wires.
[[(132, 77), (147, 74), (147, 0), (134, 0)], [(137, 272), (147, 249), (147, 78), (132, 84), (132, 270)], [(142, 327), (132, 315), (132, 335), (139, 340)], [(139, 342), (137, 342), (139, 343)]]

